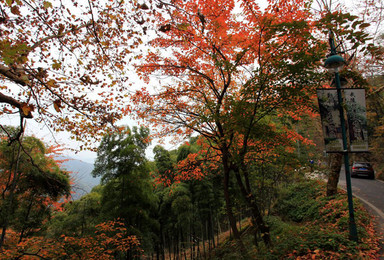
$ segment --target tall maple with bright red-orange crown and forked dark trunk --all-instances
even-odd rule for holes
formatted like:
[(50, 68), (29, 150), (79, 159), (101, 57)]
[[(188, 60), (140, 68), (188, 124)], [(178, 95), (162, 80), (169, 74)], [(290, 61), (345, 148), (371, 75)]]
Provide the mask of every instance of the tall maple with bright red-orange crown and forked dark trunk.
[(251, 1), (173, 5), (168, 17), (157, 18), (162, 34), (151, 41), (156, 49), (138, 66), (148, 82), (156, 73), (172, 78), (156, 93), (138, 91), (133, 97), (137, 113), (161, 128), (160, 134), (203, 136), (221, 165), (235, 237), (240, 240), (228, 194), (231, 175), (269, 244), (248, 163), (270, 144), (301, 138), (288, 128), (278, 131), (271, 117), (298, 119), (308, 111), (325, 45), (312, 34), (305, 1), (270, 3), (265, 10)]

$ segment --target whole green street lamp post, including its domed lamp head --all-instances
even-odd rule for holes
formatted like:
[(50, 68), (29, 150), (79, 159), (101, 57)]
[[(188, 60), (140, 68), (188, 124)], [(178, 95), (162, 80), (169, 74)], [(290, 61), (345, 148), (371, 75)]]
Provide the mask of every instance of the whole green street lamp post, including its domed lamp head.
[(347, 134), (345, 127), (344, 119), (344, 110), (343, 110), (343, 99), (341, 96), (341, 84), (340, 84), (340, 75), (339, 70), (345, 65), (345, 60), (337, 55), (335, 43), (332, 35), (329, 36), (329, 44), (331, 46), (331, 55), (326, 59), (324, 67), (329, 71), (334, 72), (335, 74), (335, 84), (337, 89), (337, 99), (339, 103), (339, 113), (340, 113), (340, 123), (341, 123), (341, 133), (343, 138), (343, 154), (344, 154), (344, 166), (345, 166), (345, 178), (347, 182), (347, 195), (348, 195), (348, 208), (349, 208), (349, 236), (350, 239), (358, 242), (356, 222), (353, 210), (353, 199), (352, 199), (352, 184), (351, 184), (351, 174), (349, 169), (349, 157), (348, 157), (348, 143), (347, 143)]

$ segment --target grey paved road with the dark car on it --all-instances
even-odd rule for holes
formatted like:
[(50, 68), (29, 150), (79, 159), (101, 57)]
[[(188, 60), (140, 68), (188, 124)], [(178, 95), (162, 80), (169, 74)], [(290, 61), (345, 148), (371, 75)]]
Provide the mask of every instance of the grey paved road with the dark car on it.
[[(376, 218), (376, 229), (380, 236), (384, 234), (384, 182), (370, 180), (363, 177), (351, 178), (352, 194), (358, 197)], [(339, 186), (345, 189), (345, 171), (341, 169)], [(382, 253), (384, 252), (384, 240), (382, 239)], [(384, 258), (380, 258), (384, 259)]]

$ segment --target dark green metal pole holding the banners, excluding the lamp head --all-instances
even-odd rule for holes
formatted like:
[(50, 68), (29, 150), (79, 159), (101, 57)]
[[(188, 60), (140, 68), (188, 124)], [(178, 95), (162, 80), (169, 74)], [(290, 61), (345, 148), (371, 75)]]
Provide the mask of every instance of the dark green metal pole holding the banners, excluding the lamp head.
[[(331, 45), (331, 55), (336, 55), (336, 47), (335, 47), (332, 35), (330, 35), (329, 37), (329, 43)], [(343, 137), (345, 179), (347, 182), (348, 209), (349, 209), (349, 238), (355, 242), (358, 242), (355, 214), (353, 210), (352, 183), (351, 183), (351, 174), (349, 169), (348, 143), (347, 143), (347, 134), (345, 130), (346, 127), (345, 127), (344, 110), (343, 110), (343, 98), (341, 96), (341, 84), (340, 84), (340, 76), (338, 71), (335, 72), (335, 83), (336, 83), (336, 89), (337, 89), (337, 99), (339, 103), (341, 133)]]

